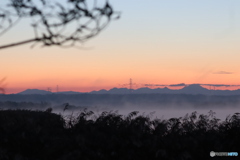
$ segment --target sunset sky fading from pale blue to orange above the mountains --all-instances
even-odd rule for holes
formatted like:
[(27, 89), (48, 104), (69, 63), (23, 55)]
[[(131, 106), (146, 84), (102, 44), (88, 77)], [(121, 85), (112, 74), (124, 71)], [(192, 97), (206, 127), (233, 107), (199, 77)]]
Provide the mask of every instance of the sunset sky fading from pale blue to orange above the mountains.
[[(62, 0), (63, 1), (63, 0)], [(240, 84), (239, 0), (110, 0), (121, 18), (79, 48), (31, 44), (0, 50), (7, 93), (144, 84)], [(20, 21), (0, 44), (34, 37)], [(219, 88), (221, 89), (221, 88)], [(237, 89), (237, 88), (229, 88)]]

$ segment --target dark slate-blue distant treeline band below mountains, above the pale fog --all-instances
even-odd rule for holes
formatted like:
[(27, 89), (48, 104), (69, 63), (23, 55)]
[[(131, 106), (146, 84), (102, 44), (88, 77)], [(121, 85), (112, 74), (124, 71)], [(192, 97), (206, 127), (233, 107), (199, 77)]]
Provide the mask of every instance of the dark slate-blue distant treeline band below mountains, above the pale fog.
[(219, 107), (239, 107), (240, 96), (208, 96), (191, 94), (50, 94), (50, 95), (21, 95), (10, 94), (1, 95), (0, 101), (15, 102), (49, 102), (52, 104), (61, 104), (69, 102), (80, 106), (108, 106), (119, 107), (168, 107), (169, 105), (186, 108), (187, 106), (195, 108), (219, 108)]

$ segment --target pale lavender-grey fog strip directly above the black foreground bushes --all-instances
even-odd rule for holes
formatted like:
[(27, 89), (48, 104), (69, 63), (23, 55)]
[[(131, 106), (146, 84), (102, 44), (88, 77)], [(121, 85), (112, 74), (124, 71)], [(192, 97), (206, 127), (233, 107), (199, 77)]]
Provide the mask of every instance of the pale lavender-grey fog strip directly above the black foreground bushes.
[(184, 117), (186, 114), (190, 115), (193, 112), (197, 112), (198, 115), (209, 115), (209, 111), (215, 112), (215, 116), (218, 119), (225, 120), (227, 116), (240, 112), (240, 107), (208, 107), (208, 108), (194, 108), (194, 107), (181, 107), (178, 106), (166, 106), (164, 108), (156, 106), (136, 107), (136, 106), (124, 106), (124, 107), (76, 107), (75, 109), (63, 111), (61, 109), (53, 109), (54, 113), (60, 113), (62, 115), (78, 115), (84, 109), (91, 110), (97, 115), (104, 112), (116, 112), (120, 115), (126, 116), (132, 111), (139, 111), (139, 115), (149, 116), (150, 118), (169, 119)]

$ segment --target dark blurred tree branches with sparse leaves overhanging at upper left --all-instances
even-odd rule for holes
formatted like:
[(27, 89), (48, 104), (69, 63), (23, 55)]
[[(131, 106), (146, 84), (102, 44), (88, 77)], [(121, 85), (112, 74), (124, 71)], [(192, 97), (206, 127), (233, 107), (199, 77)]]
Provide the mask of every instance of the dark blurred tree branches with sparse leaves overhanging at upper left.
[[(3, 3), (3, 2), (1, 2)], [(0, 4), (0, 36), (22, 19), (30, 19), (32, 39), (1, 45), (0, 49), (33, 43), (73, 47), (98, 35), (120, 13), (108, 0), (7, 0)]]

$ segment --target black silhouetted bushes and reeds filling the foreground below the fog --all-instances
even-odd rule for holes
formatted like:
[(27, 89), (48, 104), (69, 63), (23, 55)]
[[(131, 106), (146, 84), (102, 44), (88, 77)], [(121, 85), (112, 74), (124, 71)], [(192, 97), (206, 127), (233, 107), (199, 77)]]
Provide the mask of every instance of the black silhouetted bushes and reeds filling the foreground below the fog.
[(213, 111), (168, 120), (152, 117), (137, 111), (123, 116), (85, 109), (63, 116), (51, 108), (1, 110), (0, 159), (202, 160), (212, 159), (210, 151), (240, 151), (239, 113), (224, 121)]

